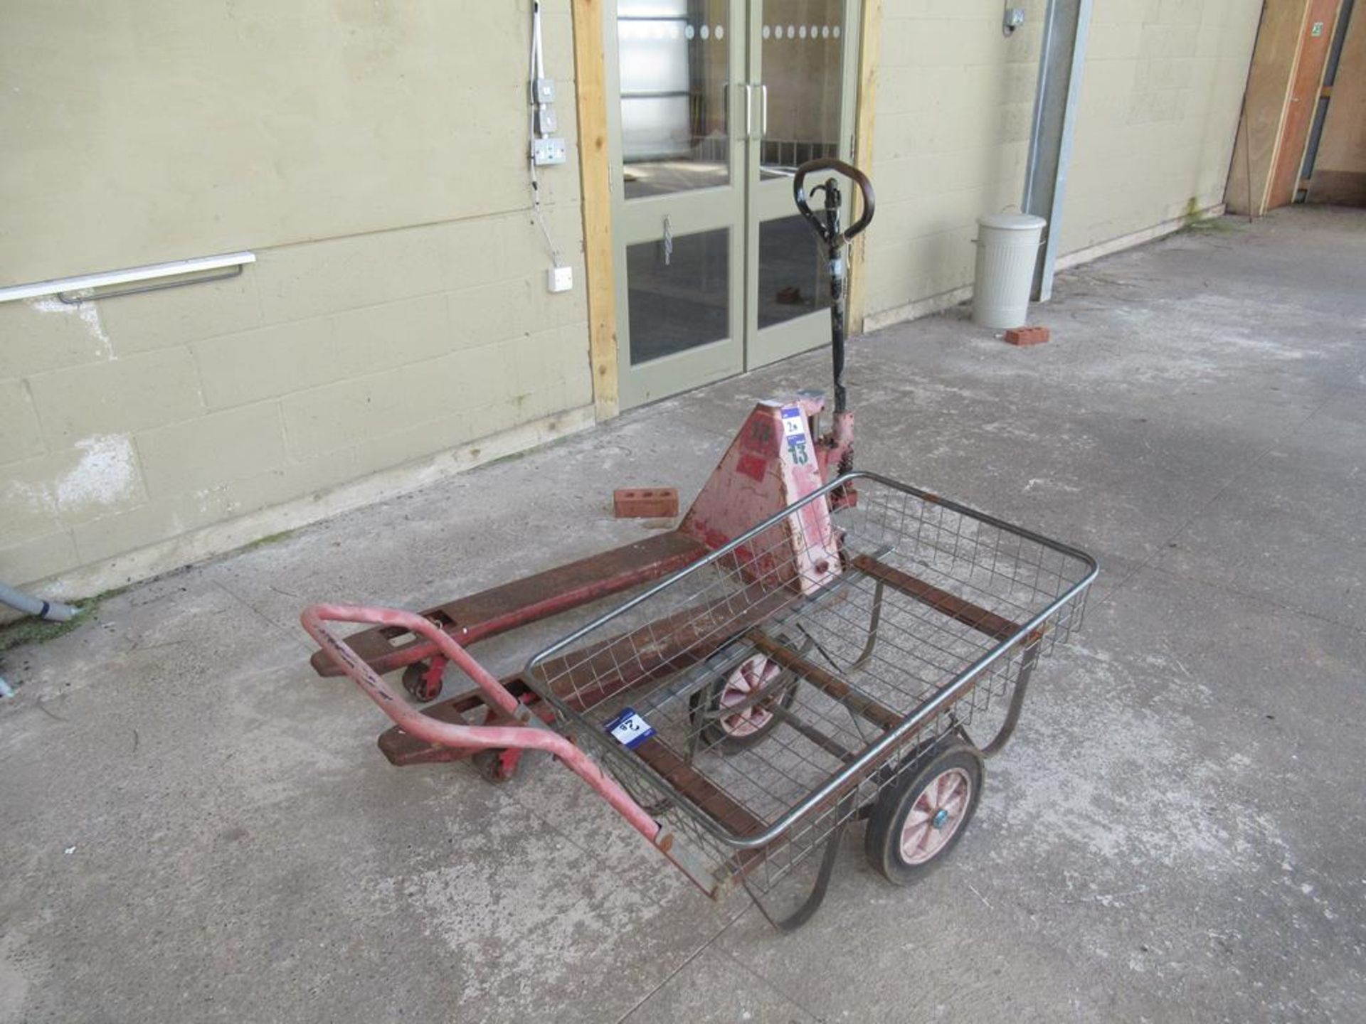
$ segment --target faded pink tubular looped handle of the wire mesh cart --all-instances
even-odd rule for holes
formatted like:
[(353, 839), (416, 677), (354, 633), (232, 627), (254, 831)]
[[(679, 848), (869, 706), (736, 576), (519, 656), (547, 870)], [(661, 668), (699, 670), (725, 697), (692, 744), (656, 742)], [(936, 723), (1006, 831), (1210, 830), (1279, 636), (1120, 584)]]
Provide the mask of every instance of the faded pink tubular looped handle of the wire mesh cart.
[[(357, 605), (314, 605), (299, 617), (318, 647), (326, 651), (333, 664), (350, 676), (380, 709), (393, 720), (395, 725), (411, 736), (441, 747), (490, 747), (541, 750), (555, 755), (587, 782), (607, 800), (612, 808), (630, 822), (631, 827), (645, 836), (652, 844), (661, 837), (661, 826), (645, 812), (620, 784), (604, 774), (582, 750), (557, 732), (541, 726), (526, 705), (512, 696), (507, 687), (499, 683), (469, 651), (458, 644), (451, 635), (432, 623), (430, 618), (400, 612), (392, 608), (362, 608)], [(374, 669), (357, 655), (346, 640), (336, 638), (324, 623), (359, 623), (362, 625), (392, 625), (425, 636), (434, 643), (441, 655), (454, 662), (464, 674), (473, 679), (489, 696), (499, 711), (515, 718), (519, 725), (456, 725), (441, 722), (422, 714), (404, 698), (399, 696)], [(658, 844), (656, 844), (658, 845)], [(665, 851), (668, 852), (668, 851)]]

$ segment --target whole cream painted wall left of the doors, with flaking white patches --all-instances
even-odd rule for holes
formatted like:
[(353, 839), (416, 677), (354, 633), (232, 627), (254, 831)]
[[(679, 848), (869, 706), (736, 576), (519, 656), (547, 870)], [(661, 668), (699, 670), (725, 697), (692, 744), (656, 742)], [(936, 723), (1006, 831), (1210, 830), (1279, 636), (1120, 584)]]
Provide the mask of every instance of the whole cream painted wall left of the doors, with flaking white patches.
[(81, 597), (591, 422), (568, 0), (544, 10), (560, 295), (525, 171), (527, 3), (7, 16), (0, 284), (257, 262), (0, 303), (0, 579)]

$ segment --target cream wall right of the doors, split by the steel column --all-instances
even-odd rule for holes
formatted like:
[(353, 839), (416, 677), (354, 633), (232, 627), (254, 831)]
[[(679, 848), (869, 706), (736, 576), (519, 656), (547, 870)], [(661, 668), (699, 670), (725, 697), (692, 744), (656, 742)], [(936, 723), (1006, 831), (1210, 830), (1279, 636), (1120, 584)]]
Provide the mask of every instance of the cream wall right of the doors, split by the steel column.
[[(1045, 4), (884, 0), (866, 311), (971, 284), (977, 216), (1019, 203)], [(1096, 0), (1061, 253), (1223, 198), (1259, 0)]]

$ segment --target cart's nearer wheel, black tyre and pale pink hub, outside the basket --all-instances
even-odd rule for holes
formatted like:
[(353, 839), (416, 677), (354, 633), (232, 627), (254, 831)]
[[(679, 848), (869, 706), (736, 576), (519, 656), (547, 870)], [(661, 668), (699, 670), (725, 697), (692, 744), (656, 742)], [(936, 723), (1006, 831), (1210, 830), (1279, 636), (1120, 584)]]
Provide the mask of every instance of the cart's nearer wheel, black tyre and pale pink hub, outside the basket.
[(960, 740), (915, 758), (877, 797), (863, 849), (893, 885), (928, 875), (963, 837), (982, 795), (982, 755)]

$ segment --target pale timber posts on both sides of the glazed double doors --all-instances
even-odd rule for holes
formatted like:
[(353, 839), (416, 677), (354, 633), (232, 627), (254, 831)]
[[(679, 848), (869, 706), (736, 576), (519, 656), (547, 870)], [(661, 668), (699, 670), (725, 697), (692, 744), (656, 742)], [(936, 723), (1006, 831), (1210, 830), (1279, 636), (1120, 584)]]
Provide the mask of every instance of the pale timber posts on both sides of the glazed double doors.
[[(589, 307), (593, 408), (598, 422), (612, 419), (622, 410), (612, 259), (612, 156), (608, 145), (607, 52), (602, 45), (604, 8), (612, 0), (571, 0), (574, 97), (579, 122), (579, 187), (583, 206), (583, 287)], [(854, 162), (870, 169), (882, 0), (863, 0), (859, 29)], [(861, 236), (850, 254), (848, 322), (854, 330), (863, 329), (866, 259), (866, 236)]]

